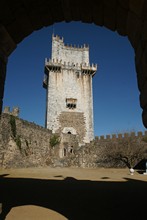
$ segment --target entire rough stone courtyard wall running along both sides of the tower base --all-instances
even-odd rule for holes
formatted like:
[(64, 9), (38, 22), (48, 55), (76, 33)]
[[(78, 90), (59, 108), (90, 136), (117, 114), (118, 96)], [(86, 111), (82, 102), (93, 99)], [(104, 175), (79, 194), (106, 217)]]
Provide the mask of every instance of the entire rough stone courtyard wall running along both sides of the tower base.
[[(62, 123), (69, 117), (66, 114), (60, 119)], [(80, 129), (81, 125), (78, 126), (78, 123), (81, 120), (76, 120), (76, 114), (76, 117), (70, 117), (70, 120)], [(16, 131), (12, 121), (15, 121)], [(50, 140), (54, 135), (59, 136), (60, 142), (51, 146)], [(105, 149), (109, 147), (111, 151), (111, 146), (119, 146), (119, 141), (129, 137), (138, 143), (139, 147), (147, 148), (147, 131), (96, 137), (91, 143), (79, 146), (78, 135), (61, 132), (52, 134), (48, 129), (3, 113), (0, 120), (0, 167), (112, 167), (113, 163), (103, 161), (103, 157), (106, 156)], [(124, 166), (122, 163), (118, 165)]]

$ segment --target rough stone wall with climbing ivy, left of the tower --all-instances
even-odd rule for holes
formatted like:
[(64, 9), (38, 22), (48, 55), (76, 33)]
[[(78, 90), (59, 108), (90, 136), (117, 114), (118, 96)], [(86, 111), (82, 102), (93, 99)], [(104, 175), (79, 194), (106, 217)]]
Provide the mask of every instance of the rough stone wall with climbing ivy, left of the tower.
[[(11, 117), (15, 120), (15, 136)], [(0, 120), (0, 165), (44, 166), (51, 155), (50, 135), (51, 131), (48, 129), (3, 113)]]

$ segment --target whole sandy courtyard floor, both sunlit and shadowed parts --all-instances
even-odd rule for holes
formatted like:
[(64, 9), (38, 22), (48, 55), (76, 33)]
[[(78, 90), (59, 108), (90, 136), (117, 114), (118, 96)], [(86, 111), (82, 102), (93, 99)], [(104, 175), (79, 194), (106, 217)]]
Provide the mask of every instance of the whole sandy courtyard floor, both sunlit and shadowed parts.
[(128, 169), (0, 170), (6, 220), (144, 219), (147, 175)]

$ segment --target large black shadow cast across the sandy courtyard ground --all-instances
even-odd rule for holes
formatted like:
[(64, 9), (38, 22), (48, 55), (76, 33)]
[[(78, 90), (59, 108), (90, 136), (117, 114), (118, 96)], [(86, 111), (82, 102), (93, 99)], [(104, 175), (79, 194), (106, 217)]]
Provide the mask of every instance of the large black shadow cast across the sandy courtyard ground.
[(70, 220), (144, 219), (147, 182), (40, 180), (0, 177), (4, 220), (11, 208), (37, 205), (55, 210)]

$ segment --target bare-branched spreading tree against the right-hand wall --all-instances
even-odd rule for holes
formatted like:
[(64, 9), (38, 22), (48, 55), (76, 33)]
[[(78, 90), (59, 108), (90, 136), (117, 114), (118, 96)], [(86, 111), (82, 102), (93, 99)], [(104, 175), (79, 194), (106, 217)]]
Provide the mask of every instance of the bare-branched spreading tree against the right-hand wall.
[[(105, 156), (104, 156), (105, 155)], [(109, 141), (103, 148), (103, 158), (109, 166), (133, 168), (147, 156), (147, 143), (142, 137), (128, 136)]]

